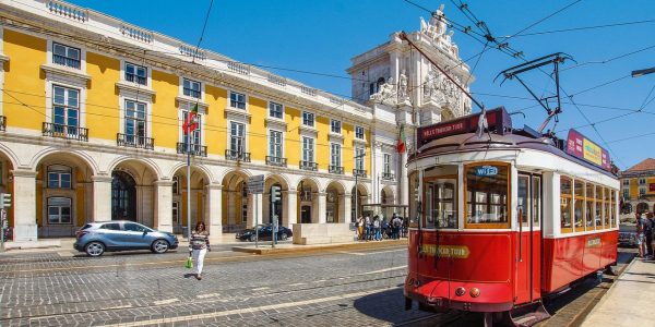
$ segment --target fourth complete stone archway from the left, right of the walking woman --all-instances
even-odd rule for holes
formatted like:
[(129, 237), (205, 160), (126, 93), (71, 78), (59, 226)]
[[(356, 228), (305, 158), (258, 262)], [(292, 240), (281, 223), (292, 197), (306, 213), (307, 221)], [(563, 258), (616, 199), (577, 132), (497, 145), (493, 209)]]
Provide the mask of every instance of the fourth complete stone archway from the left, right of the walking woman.
[(248, 225), (248, 219), (252, 217), (249, 210), (249, 204), (252, 203), (252, 196), (248, 192), (248, 178), (250, 172), (247, 170), (229, 170), (222, 179), (222, 215), (224, 231), (240, 231)]

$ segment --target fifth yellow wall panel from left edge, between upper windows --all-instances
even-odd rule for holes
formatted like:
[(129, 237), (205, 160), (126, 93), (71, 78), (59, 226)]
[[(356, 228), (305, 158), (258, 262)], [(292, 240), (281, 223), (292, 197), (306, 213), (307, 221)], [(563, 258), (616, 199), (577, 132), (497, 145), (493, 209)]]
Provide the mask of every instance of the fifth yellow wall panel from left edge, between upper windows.
[(267, 102), (253, 96), (248, 97), (248, 111), (251, 114), (250, 126), (247, 129), (248, 132), (248, 147), (250, 150), (250, 158), (254, 160), (264, 161), (266, 159), (266, 147), (269, 144), (266, 137), (266, 129), (264, 119), (266, 118), (266, 106)]

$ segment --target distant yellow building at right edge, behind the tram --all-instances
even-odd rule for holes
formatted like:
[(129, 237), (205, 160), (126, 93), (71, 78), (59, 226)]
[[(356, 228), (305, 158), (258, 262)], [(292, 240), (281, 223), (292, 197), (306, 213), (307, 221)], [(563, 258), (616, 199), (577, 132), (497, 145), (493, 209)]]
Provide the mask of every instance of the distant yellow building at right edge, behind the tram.
[(655, 213), (655, 159), (647, 158), (619, 173), (622, 215)]

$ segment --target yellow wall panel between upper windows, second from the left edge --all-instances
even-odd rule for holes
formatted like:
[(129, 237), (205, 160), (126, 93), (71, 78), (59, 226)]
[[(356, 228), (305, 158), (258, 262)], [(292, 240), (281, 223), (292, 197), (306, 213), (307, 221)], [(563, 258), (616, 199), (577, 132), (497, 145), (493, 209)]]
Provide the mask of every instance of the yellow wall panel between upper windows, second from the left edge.
[(86, 90), (86, 128), (90, 137), (116, 140), (120, 111), (116, 82), (120, 60), (86, 52), (86, 73), (92, 80)]

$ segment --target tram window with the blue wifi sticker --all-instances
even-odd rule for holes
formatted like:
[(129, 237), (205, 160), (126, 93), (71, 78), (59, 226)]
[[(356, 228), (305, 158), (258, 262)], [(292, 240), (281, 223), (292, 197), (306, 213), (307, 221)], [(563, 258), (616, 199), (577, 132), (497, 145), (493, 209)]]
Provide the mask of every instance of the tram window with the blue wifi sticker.
[[(509, 228), (509, 173), (505, 164), (476, 164), (465, 168), (466, 223), (469, 228)], [(478, 225), (478, 226), (475, 226)]]

